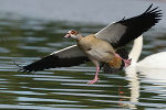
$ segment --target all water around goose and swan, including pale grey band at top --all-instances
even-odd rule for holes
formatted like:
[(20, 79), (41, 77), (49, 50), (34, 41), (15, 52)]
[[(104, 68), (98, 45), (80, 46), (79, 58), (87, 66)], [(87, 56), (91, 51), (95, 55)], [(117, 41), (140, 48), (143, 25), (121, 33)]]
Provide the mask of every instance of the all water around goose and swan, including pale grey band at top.
[(166, 0), (0, 0), (0, 109), (166, 109), (166, 73), (155, 72), (156, 78), (101, 72), (101, 80), (87, 85), (95, 73), (91, 64), (34, 74), (13, 64), (28, 65), (75, 44), (63, 38), (69, 30), (92, 34), (151, 3), (164, 14), (144, 34), (141, 59), (166, 51)]

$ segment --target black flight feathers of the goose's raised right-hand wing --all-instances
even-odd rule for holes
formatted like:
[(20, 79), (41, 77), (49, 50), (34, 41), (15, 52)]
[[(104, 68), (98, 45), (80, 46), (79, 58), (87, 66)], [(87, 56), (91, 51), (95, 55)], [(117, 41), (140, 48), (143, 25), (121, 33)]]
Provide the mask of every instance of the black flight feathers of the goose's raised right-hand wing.
[(144, 32), (148, 31), (154, 26), (160, 18), (163, 16), (162, 10), (158, 10), (158, 7), (153, 8), (153, 3), (147, 8), (147, 10), (141, 15), (118, 21), (122, 25), (125, 25), (127, 29), (122, 36), (122, 38), (114, 44), (114, 47), (121, 47), (133, 41), (134, 38), (142, 35)]

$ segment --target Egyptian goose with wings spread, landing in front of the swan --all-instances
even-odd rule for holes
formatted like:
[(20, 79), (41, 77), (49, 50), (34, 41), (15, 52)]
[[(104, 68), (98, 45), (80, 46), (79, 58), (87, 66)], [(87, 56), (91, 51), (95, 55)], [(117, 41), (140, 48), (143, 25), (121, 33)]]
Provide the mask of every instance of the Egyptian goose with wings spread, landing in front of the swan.
[(154, 9), (152, 7), (153, 4), (141, 15), (123, 19), (107, 25), (96, 34), (85, 37), (76, 31), (69, 31), (65, 37), (75, 38), (76, 45), (53, 52), (42, 59), (23, 66), (20, 72), (30, 73), (55, 67), (70, 67), (91, 61), (96, 66), (96, 74), (89, 84), (94, 84), (98, 79), (100, 62), (114, 68), (121, 68), (123, 63), (125, 67), (131, 64), (131, 59), (124, 59), (116, 53), (116, 50), (142, 35), (160, 20), (162, 10), (157, 10), (158, 7)]

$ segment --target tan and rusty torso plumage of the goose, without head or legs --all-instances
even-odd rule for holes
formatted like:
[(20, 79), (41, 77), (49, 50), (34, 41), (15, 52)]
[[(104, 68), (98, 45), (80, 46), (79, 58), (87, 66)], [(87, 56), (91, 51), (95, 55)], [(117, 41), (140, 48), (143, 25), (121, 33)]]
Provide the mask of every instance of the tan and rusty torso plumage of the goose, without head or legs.
[(120, 68), (122, 59), (115, 56), (112, 45), (93, 34), (77, 40), (77, 46), (89, 56), (91, 61), (97, 61), (110, 64), (114, 68)]

